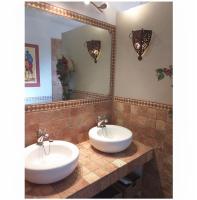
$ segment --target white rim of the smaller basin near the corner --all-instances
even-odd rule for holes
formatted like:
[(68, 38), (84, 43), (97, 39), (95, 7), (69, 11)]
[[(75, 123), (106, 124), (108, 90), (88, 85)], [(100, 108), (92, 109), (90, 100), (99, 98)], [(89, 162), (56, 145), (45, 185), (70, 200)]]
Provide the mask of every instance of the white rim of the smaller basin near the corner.
[(126, 138), (123, 138), (123, 139), (109, 139), (109, 138), (104, 138), (104, 137), (101, 137), (99, 136), (98, 134), (95, 133), (95, 129), (97, 130), (101, 130), (102, 128), (100, 127), (92, 127), (88, 134), (89, 134), (89, 137), (93, 140), (98, 140), (98, 141), (101, 141), (101, 142), (105, 142), (105, 143), (119, 143), (119, 142), (124, 142), (124, 141), (127, 141), (129, 139), (132, 139), (132, 136), (133, 136), (133, 133), (131, 132), (131, 130), (129, 130), (128, 128), (125, 128), (123, 126), (119, 126), (119, 125), (113, 125), (113, 124), (107, 124), (106, 125), (106, 128), (107, 127), (118, 127), (118, 128), (121, 128), (121, 129), (124, 129), (127, 131), (128, 134), (130, 134), (129, 136), (127, 136)]

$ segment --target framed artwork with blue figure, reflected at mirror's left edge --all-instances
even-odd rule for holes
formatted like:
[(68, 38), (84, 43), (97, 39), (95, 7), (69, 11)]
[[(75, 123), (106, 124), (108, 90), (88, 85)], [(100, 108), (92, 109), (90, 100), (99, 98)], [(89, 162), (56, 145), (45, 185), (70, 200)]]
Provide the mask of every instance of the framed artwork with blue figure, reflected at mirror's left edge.
[(39, 49), (25, 43), (25, 87), (40, 87)]

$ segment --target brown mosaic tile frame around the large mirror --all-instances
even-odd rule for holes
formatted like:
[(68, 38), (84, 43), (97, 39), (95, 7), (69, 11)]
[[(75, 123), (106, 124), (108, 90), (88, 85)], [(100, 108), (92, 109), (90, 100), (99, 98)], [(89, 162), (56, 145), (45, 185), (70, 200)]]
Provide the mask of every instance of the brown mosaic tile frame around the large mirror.
[(49, 12), (51, 14), (63, 16), (68, 19), (73, 19), (88, 25), (93, 25), (105, 30), (108, 30), (111, 34), (111, 73), (110, 73), (110, 93), (109, 96), (99, 97), (95, 99), (80, 99), (80, 100), (69, 100), (69, 101), (57, 101), (52, 103), (44, 103), (44, 104), (32, 104), (25, 105), (26, 112), (33, 111), (43, 111), (43, 110), (55, 110), (61, 109), (64, 107), (75, 107), (83, 104), (94, 104), (103, 101), (112, 100), (114, 94), (114, 70), (115, 70), (115, 37), (116, 37), (116, 27), (114, 25), (108, 24), (106, 22), (73, 12), (71, 10), (67, 10), (65, 8), (60, 8), (45, 2), (25, 2), (26, 7), (36, 8), (38, 10), (42, 10), (45, 12)]

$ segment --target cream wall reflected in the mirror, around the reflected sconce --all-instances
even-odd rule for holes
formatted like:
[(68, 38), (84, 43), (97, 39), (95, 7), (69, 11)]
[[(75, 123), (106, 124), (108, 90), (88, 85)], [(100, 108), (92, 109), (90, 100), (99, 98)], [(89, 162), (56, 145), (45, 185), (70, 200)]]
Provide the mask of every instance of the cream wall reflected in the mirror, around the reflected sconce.
[[(97, 63), (89, 55), (86, 41), (100, 40)], [(74, 61), (72, 87), (75, 90), (108, 95), (110, 85), (111, 36), (107, 30), (83, 26), (62, 34), (63, 52)]]

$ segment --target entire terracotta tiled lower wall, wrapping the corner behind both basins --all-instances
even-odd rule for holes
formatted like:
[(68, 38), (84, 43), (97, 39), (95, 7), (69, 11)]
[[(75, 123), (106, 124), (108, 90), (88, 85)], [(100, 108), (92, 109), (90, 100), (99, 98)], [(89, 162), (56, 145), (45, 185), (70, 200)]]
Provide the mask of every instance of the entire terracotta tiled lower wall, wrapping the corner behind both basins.
[[(172, 197), (172, 106), (115, 97), (114, 101), (67, 105), (57, 109), (25, 113), (25, 145), (36, 142), (38, 128), (46, 128), (52, 139), (80, 143), (98, 115), (109, 123), (132, 130), (134, 139), (155, 148), (155, 159), (145, 168), (144, 197)], [(158, 186), (159, 189), (155, 188)]]

